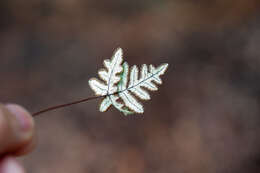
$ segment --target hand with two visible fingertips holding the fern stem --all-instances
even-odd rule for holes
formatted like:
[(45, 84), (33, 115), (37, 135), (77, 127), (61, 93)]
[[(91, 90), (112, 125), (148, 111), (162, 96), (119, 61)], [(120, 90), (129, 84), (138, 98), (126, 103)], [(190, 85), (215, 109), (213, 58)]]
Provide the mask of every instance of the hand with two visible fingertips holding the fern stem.
[(0, 104), (0, 173), (24, 173), (15, 157), (34, 146), (34, 121), (21, 106)]

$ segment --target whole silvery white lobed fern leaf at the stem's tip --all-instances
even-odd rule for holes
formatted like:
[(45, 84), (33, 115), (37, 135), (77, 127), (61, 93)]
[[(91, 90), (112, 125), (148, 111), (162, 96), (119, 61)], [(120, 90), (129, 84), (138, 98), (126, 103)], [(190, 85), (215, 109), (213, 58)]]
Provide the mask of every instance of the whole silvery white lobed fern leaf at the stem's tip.
[(106, 69), (101, 69), (98, 72), (105, 83), (92, 78), (89, 80), (89, 85), (96, 95), (105, 97), (99, 107), (101, 112), (106, 111), (113, 105), (125, 115), (143, 113), (143, 105), (136, 97), (140, 100), (150, 99), (150, 95), (145, 89), (158, 90), (155, 83), (162, 84), (160, 76), (165, 73), (168, 64), (162, 64), (157, 68), (150, 65), (149, 70), (147, 65), (144, 64), (139, 78), (139, 70), (136, 65), (131, 68), (129, 76), (129, 65), (127, 62), (122, 65), (122, 57), (123, 51), (118, 48), (111, 60), (104, 60)]

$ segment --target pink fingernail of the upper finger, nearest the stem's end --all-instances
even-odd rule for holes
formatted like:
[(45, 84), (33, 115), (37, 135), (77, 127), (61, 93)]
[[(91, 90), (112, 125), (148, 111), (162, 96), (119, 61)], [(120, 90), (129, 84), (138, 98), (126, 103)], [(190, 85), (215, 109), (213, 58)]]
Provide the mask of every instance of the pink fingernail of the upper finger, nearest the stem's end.
[(33, 122), (30, 114), (21, 106), (15, 104), (7, 104), (6, 108), (15, 115), (22, 131), (26, 132), (32, 129)]

